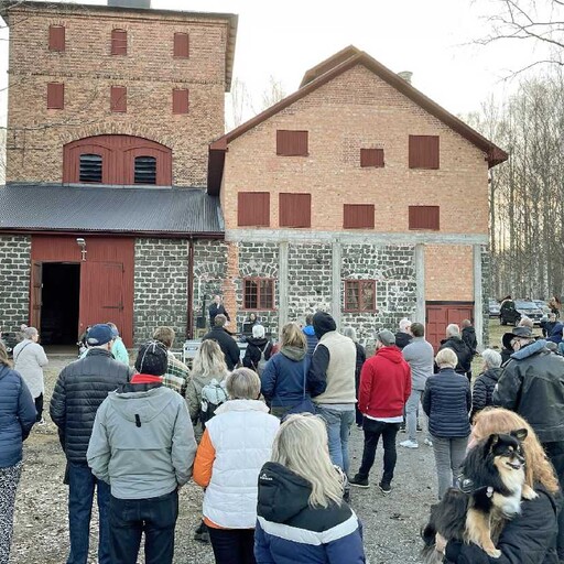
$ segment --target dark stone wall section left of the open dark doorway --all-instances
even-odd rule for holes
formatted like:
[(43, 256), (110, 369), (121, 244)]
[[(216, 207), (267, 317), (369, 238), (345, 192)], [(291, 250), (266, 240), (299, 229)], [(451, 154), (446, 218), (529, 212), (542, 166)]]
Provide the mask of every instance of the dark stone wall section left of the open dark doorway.
[(0, 326), (17, 330), (29, 323), (31, 237), (0, 237)]

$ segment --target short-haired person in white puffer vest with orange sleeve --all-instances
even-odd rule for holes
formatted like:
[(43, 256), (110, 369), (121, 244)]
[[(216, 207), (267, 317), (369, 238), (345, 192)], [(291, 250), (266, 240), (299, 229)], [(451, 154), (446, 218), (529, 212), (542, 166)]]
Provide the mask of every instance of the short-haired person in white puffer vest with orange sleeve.
[(270, 460), (280, 421), (259, 401), (260, 379), (249, 368), (226, 380), (229, 400), (206, 423), (194, 481), (206, 488), (204, 522), (217, 564), (254, 564), (259, 471)]

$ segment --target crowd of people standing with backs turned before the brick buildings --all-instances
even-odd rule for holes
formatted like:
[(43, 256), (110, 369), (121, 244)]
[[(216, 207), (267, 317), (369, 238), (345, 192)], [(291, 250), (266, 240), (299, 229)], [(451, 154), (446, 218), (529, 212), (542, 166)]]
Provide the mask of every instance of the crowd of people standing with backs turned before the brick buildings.
[[(147, 564), (173, 562), (178, 490), (204, 489), (195, 539), (218, 564), (366, 562), (350, 486), (370, 487), (380, 437), (378, 487), (393, 489), (400, 447), (432, 448), (441, 499), (457, 487), (468, 449), (491, 433), (527, 429), (527, 480), (539, 497), (523, 501), (502, 530), (496, 562), (564, 561), (564, 358), (527, 326), (503, 337), (508, 360), (478, 354), (468, 319), (446, 327), (437, 354), (424, 325), (404, 318), (380, 329), (367, 358), (356, 332), (330, 314), (288, 323), (272, 343), (257, 318), (245, 356), (227, 329), (220, 299), (212, 328), (188, 368), (172, 352), (175, 334), (156, 327), (130, 366), (113, 324), (85, 336), (87, 350), (58, 375), (51, 420), (66, 456), (69, 553), (86, 564), (94, 497), (98, 562), (135, 564), (144, 535)], [(22, 443), (44, 420), (47, 358), (25, 329), (14, 366), (0, 344), (0, 564), (8, 563)], [(505, 409), (502, 409), (505, 408)], [(424, 413), (424, 415), (423, 415)], [(4, 423), (6, 422), (6, 423)], [(351, 427), (364, 433), (360, 466), (349, 458)], [(437, 538), (444, 562), (494, 562), (477, 545)]]

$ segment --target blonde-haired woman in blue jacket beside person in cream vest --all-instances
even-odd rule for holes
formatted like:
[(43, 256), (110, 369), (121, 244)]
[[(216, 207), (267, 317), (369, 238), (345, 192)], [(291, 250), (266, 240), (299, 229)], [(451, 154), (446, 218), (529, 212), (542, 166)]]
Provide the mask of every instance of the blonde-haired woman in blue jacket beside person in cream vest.
[(267, 362), (260, 377), (261, 392), (276, 417), (291, 412), (314, 412), (310, 361), (305, 335), (296, 323), (288, 323), (282, 327), (280, 352)]

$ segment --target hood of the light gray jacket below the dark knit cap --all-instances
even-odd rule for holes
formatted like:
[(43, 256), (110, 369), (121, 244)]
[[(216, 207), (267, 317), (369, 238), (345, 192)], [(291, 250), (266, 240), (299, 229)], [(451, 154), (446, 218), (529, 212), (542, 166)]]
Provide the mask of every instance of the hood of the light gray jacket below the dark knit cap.
[(162, 383), (127, 383), (108, 394), (112, 408), (127, 421), (149, 423), (169, 408), (172, 390)]

